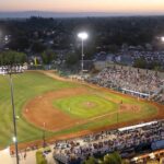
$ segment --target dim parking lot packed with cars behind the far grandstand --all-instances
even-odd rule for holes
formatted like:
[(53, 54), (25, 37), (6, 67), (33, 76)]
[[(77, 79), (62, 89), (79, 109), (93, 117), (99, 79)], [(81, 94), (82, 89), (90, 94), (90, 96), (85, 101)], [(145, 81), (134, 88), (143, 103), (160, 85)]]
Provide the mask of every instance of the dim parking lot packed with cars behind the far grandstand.
[[(94, 61), (110, 61), (126, 66), (133, 66), (138, 59), (144, 59), (148, 68), (151, 66), (149, 63), (157, 63), (161, 70), (164, 69), (164, 51), (141, 49), (120, 49), (116, 54), (99, 51), (95, 55)], [(154, 66), (152, 65), (151, 67)], [(155, 69), (155, 67), (153, 69)]]

